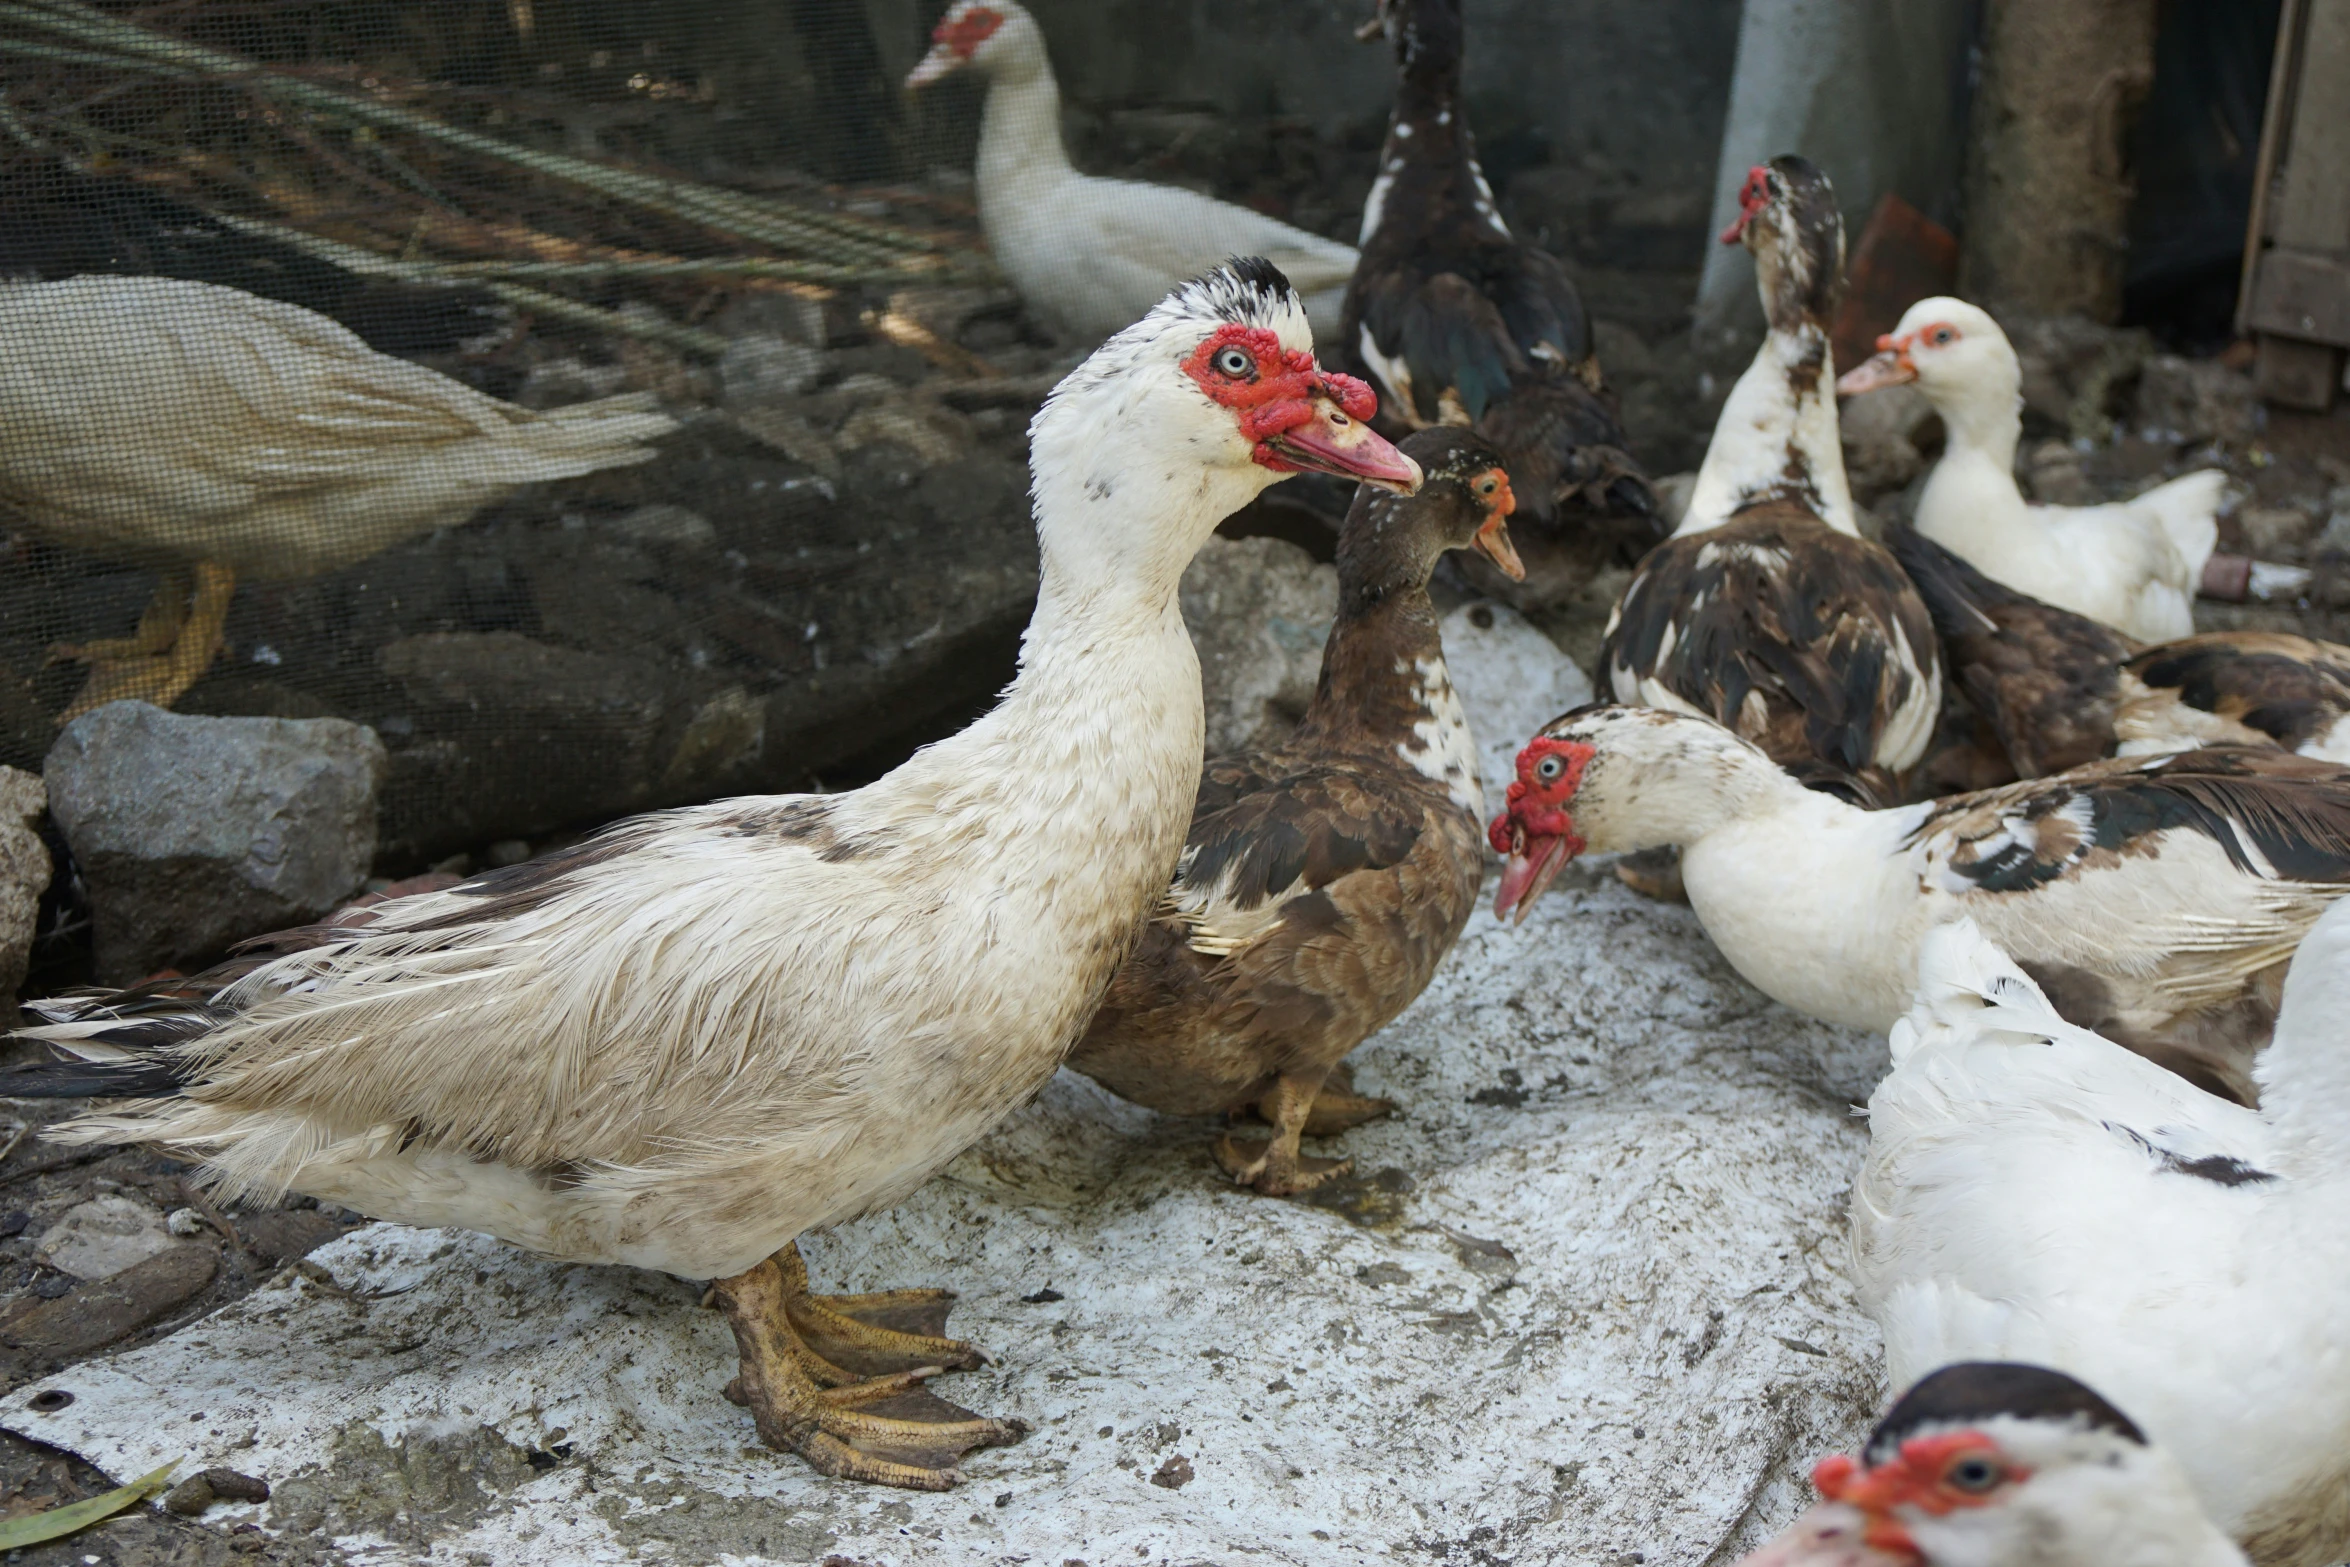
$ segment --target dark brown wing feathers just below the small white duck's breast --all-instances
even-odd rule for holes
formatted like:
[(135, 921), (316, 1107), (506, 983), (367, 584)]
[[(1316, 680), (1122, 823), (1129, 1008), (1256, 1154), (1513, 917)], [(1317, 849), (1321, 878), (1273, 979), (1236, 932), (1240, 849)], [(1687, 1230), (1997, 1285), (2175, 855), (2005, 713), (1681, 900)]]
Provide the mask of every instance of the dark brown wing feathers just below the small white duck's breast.
[(1941, 634), (1943, 658), (2023, 778), (2063, 773), (2113, 752), (2122, 700), (2122, 632), (1990, 580), (1915, 529), (1892, 550)]

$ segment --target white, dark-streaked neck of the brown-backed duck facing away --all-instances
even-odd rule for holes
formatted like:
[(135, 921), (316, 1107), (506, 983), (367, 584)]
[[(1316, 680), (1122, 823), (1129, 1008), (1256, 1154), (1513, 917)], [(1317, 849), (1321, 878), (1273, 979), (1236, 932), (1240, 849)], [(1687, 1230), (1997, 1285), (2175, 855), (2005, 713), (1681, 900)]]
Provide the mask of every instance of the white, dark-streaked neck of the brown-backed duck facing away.
[(1730, 388), (1678, 533), (1704, 533), (1755, 500), (1795, 498), (1859, 536), (1835, 430), (1835, 362), (1812, 320), (1772, 327)]

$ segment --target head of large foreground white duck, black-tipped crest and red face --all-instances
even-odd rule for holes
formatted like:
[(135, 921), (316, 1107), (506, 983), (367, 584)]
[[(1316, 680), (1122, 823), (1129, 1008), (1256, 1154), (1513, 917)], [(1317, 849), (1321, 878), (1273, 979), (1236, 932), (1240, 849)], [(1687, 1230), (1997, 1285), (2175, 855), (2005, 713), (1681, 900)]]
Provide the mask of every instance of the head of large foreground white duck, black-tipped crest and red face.
[[(1180, 576), (1220, 519), (1290, 475), (1410, 493), (1419, 465), (1370, 428), (1375, 409), (1368, 385), (1314, 362), (1314, 331), (1281, 268), (1227, 261), (1046, 397), (1029, 423), (1039, 529), (1065, 561), (1166, 536)], [(1170, 517), (1187, 519), (1173, 533), (1198, 538), (1173, 538)]]

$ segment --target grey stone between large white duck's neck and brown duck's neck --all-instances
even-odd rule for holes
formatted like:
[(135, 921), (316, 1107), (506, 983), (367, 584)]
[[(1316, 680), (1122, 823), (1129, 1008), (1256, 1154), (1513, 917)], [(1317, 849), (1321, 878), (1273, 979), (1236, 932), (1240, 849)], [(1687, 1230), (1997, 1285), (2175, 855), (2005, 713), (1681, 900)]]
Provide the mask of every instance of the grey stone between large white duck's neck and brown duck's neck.
[(1337, 566), (1281, 538), (1210, 538), (1182, 573), (1180, 599), (1198, 648), (1208, 754), (1285, 740), (1321, 679)]

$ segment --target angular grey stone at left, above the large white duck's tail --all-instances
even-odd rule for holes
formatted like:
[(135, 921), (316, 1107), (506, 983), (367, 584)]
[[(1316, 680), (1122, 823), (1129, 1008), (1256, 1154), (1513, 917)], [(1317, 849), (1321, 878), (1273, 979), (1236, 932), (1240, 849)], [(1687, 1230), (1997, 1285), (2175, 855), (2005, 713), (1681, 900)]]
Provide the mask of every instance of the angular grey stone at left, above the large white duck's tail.
[(362, 724), (108, 702), (66, 726), (42, 775), (106, 984), (317, 919), (376, 860), (385, 752)]

